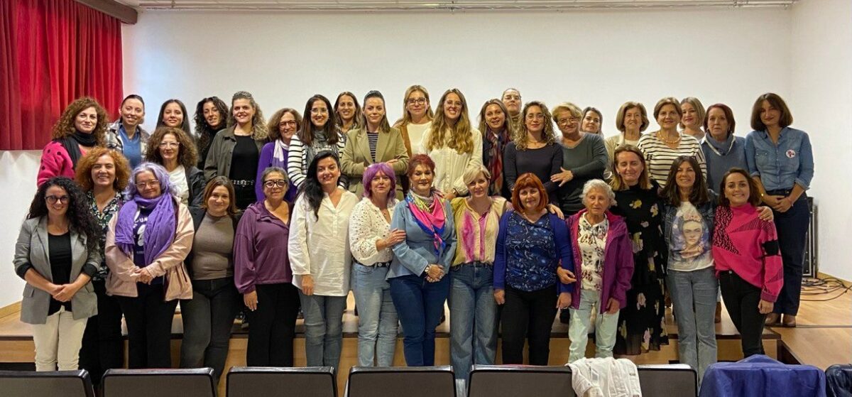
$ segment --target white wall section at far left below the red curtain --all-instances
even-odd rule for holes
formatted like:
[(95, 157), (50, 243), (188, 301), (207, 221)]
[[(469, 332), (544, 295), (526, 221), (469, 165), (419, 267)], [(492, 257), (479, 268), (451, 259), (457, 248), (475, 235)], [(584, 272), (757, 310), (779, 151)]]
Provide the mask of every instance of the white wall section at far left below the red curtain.
[(36, 193), (41, 151), (0, 151), (0, 308), (20, 301), (24, 280), (14, 273), (14, 243)]

